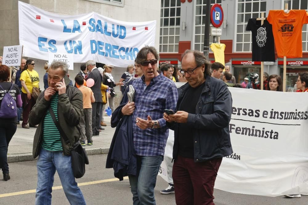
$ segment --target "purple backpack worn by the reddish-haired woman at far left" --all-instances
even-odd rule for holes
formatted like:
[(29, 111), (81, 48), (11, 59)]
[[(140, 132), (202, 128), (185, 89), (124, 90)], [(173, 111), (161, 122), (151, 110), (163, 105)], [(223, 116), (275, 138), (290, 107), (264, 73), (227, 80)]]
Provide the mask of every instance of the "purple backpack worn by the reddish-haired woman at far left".
[[(4, 90), (1, 85), (0, 88)], [(16, 101), (10, 94), (11, 89), (13, 88), (13, 83), (8, 92), (5, 93), (2, 98), (1, 107), (0, 107), (0, 118), (14, 118), (17, 117), (17, 107)]]

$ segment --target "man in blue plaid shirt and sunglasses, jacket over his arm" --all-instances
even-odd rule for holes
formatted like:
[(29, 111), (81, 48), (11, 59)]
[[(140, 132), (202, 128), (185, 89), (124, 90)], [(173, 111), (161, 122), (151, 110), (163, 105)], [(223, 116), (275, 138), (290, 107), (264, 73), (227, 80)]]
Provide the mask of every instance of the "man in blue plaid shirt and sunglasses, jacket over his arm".
[(164, 109), (175, 111), (178, 98), (174, 82), (158, 71), (158, 59), (155, 47), (145, 46), (139, 51), (136, 63), (144, 75), (132, 83), (135, 102), (128, 102), (122, 108), (123, 115), (132, 114), (133, 120), (137, 175), (128, 175), (133, 204), (156, 204), (156, 176), (169, 134), (163, 119)]

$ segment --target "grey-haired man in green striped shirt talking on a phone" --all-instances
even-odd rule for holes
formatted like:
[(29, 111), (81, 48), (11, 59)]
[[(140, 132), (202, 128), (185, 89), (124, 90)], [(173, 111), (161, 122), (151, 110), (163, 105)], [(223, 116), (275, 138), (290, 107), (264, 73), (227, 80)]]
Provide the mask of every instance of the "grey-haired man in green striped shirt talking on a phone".
[[(86, 204), (75, 181), (69, 150), (80, 138), (78, 126), (83, 112), (83, 97), (80, 90), (69, 83), (67, 63), (54, 61), (48, 70), (49, 87), (39, 95), (29, 115), (30, 123), (39, 124), (33, 140), (33, 157), (39, 156), (35, 204), (51, 204), (56, 170), (70, 204)], [(63, 131), (68, 134), (70, 145), (65, 144), (60, 136), (49, 106)]]

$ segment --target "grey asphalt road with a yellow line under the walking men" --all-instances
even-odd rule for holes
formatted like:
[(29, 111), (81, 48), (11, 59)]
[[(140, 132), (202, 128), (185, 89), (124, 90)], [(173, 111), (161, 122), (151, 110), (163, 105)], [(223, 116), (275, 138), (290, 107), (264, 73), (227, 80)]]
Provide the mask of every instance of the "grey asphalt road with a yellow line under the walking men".
[[(107, 155), (89, 156), (90, 164), (86, 167), (86, 174), (77, 179), (79, 187), (83, 192), (87, 204), (132, 204), (132, 194), (129, 188), (128, 179), (114, 179), (113, 170), (105, 168)], [(0, 179), (0, 204), (34, 204), (35, 188), (37, 183), (36, 161), (10, 163), (11, 179), (5, 182)], [(157, 177), (155, 187), (155, 198), (158, 205), (174, 205), (174, 194), (161, 195), (160, 190), (167, 187), (167, 183)], [(54, 187), (52, 192), (52, 204), (69, 204), (61, 186), (58, 174), (55, 174)], [(16, 193), (14, 193), (16, 192)], [(308, 196), (298, 199), (286, 199), (279, 197), (264, 197), (255, 195), (243, 195), (214, 190), (216, 205), (230, 204), (308, 204)]]

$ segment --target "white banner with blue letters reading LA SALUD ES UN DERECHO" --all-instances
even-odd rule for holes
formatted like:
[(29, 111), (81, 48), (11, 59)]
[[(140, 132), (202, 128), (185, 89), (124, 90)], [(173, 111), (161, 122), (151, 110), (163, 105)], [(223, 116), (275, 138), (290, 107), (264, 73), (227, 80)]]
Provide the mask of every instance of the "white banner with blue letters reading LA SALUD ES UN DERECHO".
[(18, 15), (19, 43), (27, 57), (48, 60), (49, 53), (71, 53), (77, 63), (126, 67), (144, 45), (155, 43), (156, 21), (123, 22), (95, 12), (58, 15), (20, 1)]

